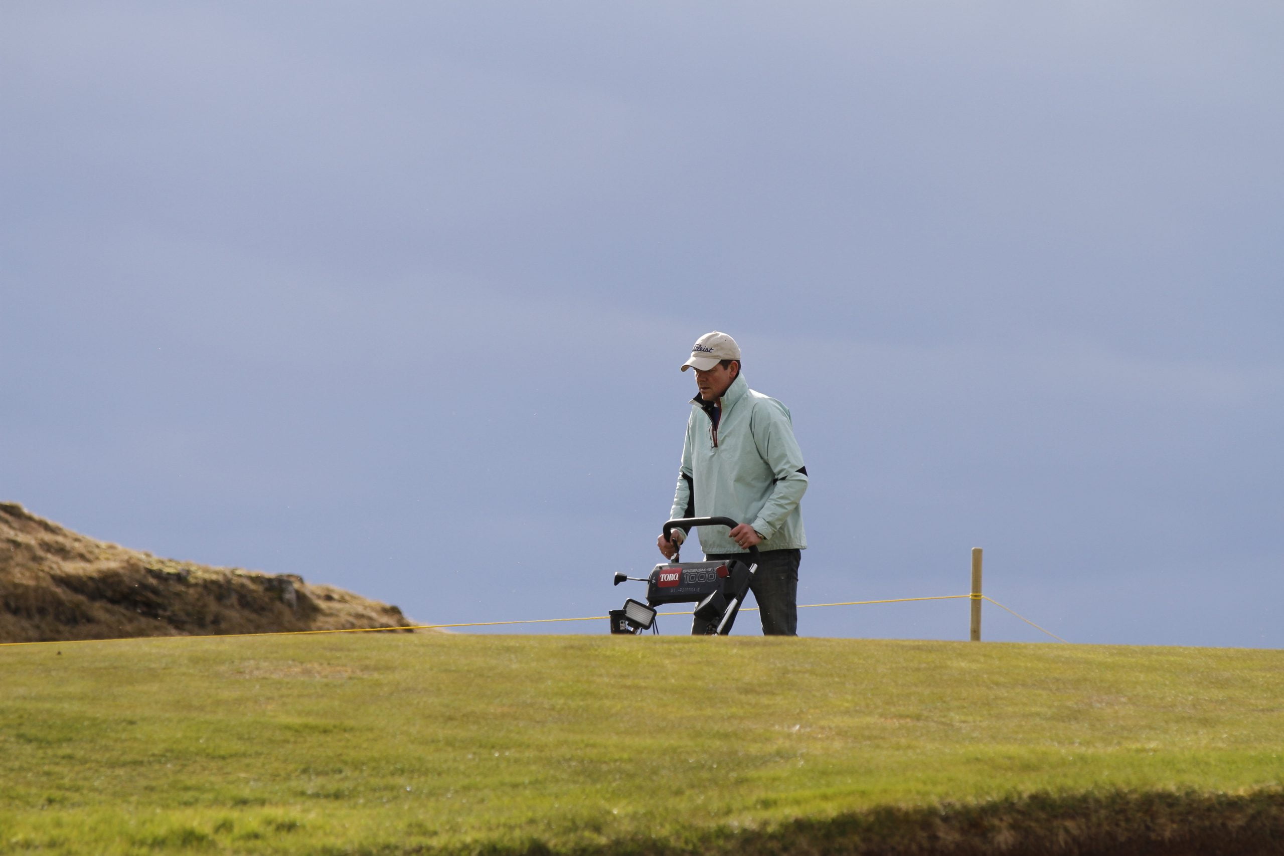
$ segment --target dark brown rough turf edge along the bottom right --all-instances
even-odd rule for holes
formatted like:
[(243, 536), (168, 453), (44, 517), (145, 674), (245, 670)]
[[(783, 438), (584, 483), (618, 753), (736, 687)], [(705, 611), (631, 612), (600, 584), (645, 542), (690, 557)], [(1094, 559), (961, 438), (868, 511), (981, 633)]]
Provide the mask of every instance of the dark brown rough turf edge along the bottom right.
[[(478, 856), (1266, 856), (1284, 852), (1284, 789), (1035, 793), (975, 805), (881, 807), (770, 829), (715, 828), (682, 841), (592, 846), (475, 843)], [(351, 851), (344, 851), (351, 852)], [(374, 851), (372, 851), (374, 852)], [(403, 853), (440, 853), (410, 847)]]

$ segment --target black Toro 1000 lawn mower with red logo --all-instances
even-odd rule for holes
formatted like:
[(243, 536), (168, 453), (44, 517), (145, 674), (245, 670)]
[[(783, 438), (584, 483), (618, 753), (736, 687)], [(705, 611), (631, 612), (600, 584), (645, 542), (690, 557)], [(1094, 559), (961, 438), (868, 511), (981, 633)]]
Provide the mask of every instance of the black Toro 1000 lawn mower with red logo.
[[(696, 526), (727, 526), (737, 524), (731, 517), (682, 517), (664, 524), (664, 536), (670, 539), (674, 529), (693, 529)], [(611, 633), (637, 635), (643, 630), (659, 633), (655, 624), (656, 607), (664, 603), (695, 603), (695, 617), (702, 622), (707, 635), (727, 635), (731, 633), (736, 611), (745, 602), (749, 583), (758, 570), (758, 548), (750, 547), (746, 560), (725, 560), (716, 562), (681, 562), (678, 551), (672, 562), (663, 562), (652, 569), (650, 576), (628, 576), (615, 574), (615, 585), (625, 580), (646, 583), (646, 603), (629, 598), (624, 607), (611, 610)], [(693, 622), (692, 634), (698, 634), (701, 624)]]

